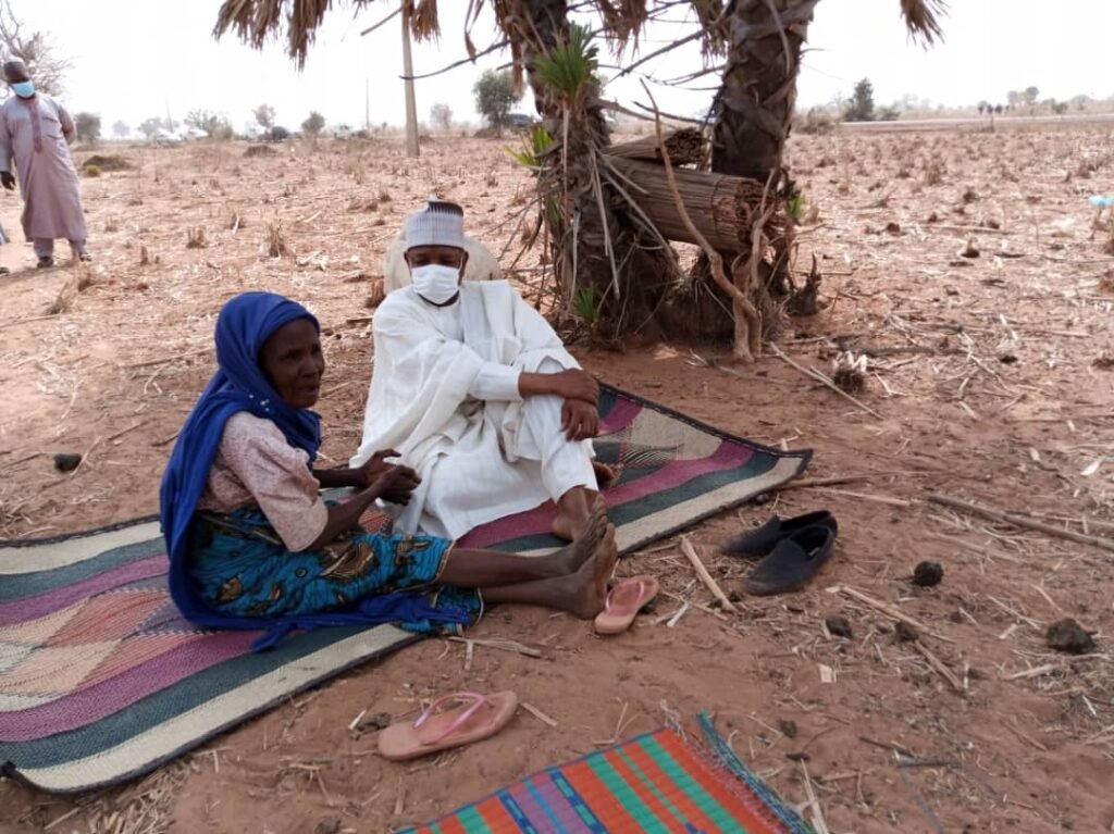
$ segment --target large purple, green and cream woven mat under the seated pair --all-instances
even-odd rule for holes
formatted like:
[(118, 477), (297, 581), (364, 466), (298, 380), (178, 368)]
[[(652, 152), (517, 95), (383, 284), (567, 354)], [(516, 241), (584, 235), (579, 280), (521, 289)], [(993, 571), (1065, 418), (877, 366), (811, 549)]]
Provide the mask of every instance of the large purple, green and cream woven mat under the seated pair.
[[(780, 452), (606, 389), (599, 457), (629, 552), (798, 475)], [(470, 533), (544, 552), (553, 506)], [(374, 522), (381, 522), (382, 518)], [(317, 629), (252, 654), (258, 632), (183, 620), (157, 520), (0, 541), (0, 773), (74, 792), (139, 776), (291, 694), (416, 638), (391, 626)]]

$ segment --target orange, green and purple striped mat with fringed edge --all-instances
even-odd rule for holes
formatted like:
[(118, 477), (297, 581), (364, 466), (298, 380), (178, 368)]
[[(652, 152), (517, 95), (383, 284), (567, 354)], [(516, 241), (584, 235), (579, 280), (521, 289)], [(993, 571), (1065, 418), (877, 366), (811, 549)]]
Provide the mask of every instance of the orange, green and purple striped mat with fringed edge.
[(663, 728), (400, 834), (812, 834), (705, 716), (701, 724), (707, 752)]

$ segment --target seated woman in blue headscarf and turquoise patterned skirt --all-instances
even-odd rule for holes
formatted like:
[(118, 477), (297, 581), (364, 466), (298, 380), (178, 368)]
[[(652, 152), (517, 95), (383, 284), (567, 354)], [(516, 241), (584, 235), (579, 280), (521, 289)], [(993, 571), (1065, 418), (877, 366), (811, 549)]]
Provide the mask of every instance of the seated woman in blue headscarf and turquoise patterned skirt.
[[(398, 622), (432, 632), (470, 625), (486, 598), (594, 617), (615, 565), (599, 504), (585, 534), (540, 558), (455, 549), (424, 536), (367, 532), (377, 500), (404, 504), (419, 479), (387, 450), (359, 469), (313, 468), (312, 411), (325, 360), (317, 320), (272, 293), (232, 298), (216, 324), (217, 372), (178, 435), (159, 492), (170, 595), (213, 628)], [(321, 488), (352, 487), (342, 503)]]

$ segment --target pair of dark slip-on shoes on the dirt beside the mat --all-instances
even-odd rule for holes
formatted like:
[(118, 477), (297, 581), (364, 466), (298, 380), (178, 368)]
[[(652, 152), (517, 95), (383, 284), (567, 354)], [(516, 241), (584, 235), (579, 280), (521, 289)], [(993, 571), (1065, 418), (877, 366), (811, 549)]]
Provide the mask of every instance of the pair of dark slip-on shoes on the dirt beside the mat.
[(774, 516), (762, 527), (731, 537), (720, 549), (764, 557), (743, 587), (753, 596), (770, 597), (803, 588), (832, 555), (838, 532), (839, 524), (827, 510), (791, 519)]

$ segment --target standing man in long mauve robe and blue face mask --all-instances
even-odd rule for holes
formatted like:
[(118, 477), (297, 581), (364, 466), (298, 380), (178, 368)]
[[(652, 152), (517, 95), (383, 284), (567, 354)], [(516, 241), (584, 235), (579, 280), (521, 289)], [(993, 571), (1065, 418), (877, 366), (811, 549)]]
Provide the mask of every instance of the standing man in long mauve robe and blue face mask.
[(85, 249), (88, 233), (77, 169), (69, 154), (74, 120), (60, 104), (35, 91), (27, 65), (12, 59), (3, 65), (12, 94), (0, 107), (0, 183), (23, 195), (23, 233), (35, 244), (40, 267), (55, 265), (55, 239), (69, 241), (75, 258), (91, 261)]

